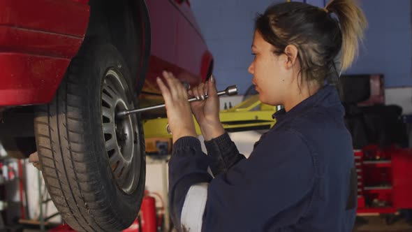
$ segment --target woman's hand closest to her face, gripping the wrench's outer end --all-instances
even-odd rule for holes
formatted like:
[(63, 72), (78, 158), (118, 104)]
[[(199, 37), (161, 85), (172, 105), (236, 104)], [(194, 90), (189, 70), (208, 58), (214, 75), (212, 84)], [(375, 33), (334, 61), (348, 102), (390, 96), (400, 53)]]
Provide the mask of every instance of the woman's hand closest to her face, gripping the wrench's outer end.
[[(208, 95), (205, 99), (205, 95)], [(211, 140), (225, 133), (219, 119), (219, 96), (217, 96), (216, 82), (213, 75), (206, 83), (193, 87), (189, 95), (203, 101), (192, 101), (191, 110), (200, 126), (205, 140)]]

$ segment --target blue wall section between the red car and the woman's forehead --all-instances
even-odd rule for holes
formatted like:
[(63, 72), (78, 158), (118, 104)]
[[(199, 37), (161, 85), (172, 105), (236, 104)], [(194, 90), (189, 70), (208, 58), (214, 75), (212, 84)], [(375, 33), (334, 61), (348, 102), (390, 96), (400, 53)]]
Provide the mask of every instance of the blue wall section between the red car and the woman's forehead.
[(257, 13), (273, 0), (191, 1), (199, 27), (214, 55), (214, 75), (218, 89), (237, 84), (240, 94), (251, 85), (247, 68), (253, 57), (253, 22)]

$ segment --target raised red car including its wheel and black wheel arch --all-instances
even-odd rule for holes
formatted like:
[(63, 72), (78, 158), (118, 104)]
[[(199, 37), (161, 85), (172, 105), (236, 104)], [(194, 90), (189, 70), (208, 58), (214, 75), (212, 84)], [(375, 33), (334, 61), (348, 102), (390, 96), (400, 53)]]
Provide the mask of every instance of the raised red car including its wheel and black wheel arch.
[(115, 115), (159, 101), (163, 70), (190, 85), (212, 73), (190, 2), (0, 0), (0, 12), (0, 143), (15, 157), (38, 152), (73, 229), (127, 228), (145, 143), (142, 115)]

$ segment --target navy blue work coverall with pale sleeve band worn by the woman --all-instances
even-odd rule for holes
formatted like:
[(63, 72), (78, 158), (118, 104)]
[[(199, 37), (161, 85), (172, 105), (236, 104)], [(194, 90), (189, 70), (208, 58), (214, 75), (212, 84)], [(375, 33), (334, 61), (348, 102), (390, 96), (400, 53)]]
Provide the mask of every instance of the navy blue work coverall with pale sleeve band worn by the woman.
[(274, 118), (248, 159), (227, 133), (205, 141), (207, 154), (198, 138), (175, 142), (169, 197), (179, 231), (193, 231), (181, 223), (182, 208), (199, 183), (207, 183), (202, 231), (352, 231), (357, 183), (336, 88), (326, 85)]

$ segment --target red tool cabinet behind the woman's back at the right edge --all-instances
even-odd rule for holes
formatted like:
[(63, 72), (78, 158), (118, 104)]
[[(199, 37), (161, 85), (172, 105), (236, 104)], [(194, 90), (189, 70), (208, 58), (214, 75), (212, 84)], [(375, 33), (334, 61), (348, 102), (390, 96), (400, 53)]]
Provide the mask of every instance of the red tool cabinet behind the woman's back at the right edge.
[(355, 150), (358, 214), (412, 209), (412, 150), (368, 145)]

